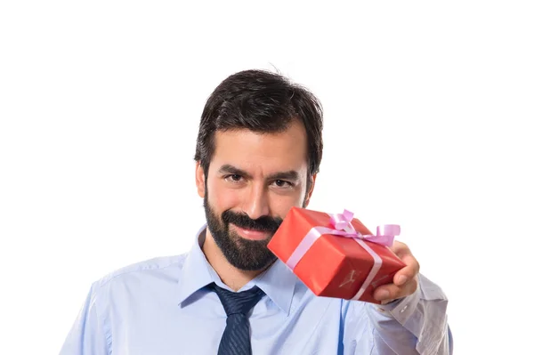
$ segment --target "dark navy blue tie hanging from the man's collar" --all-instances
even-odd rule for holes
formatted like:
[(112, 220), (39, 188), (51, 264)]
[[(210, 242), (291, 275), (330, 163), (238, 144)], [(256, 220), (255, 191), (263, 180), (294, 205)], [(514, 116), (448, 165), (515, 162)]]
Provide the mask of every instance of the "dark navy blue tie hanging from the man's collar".
[(251, 355), (248, 312), (262, 299), (263, 291), (258, 286), (242, 292), (231, 292), (215, 284), (212, 288), (228, 317), (218, 355)]

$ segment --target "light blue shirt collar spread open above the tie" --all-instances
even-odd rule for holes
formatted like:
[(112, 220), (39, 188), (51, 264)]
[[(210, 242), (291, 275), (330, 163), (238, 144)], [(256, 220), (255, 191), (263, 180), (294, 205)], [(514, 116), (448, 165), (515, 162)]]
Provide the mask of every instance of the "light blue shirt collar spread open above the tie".
[[(207, 262), (206, 256), (202, 252), (201, 247), (204, 245), (205, 239), (206, 224), (198, 230), (193, 247), (183, 262), (177, 294), (178, 303), (182, 306), (185, 306), (185, 302), (190, 296), (212, 282), (228, 289), (228, 286), (223, 284), (223, 281)], [(289, 270), (287, 265), (280, 260), (276, 260), (269, 269), (248, 282), (242, 289), (245, 290), (252, 286), (260, 287), (271, 301), (288, 315), (296, 282), (295, 274)]]

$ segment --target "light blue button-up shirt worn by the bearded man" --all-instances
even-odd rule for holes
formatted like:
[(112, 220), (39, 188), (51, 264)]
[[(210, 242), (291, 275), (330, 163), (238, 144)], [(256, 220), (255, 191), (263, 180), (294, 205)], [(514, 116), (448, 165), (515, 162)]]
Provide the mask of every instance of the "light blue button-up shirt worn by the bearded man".
[[(188, 254), (93, 283), (60, 355), (215, 355), (226, 314), (205, 286), (229, 288), (201, 250), (205, 229)], [(242, 287), (266, 294), (250, 315), (253, 354), (451, 354), (447, 298), (424, 276), (419, 281), (415, 294), (379, 306), (318, 297), (277, 261)]]

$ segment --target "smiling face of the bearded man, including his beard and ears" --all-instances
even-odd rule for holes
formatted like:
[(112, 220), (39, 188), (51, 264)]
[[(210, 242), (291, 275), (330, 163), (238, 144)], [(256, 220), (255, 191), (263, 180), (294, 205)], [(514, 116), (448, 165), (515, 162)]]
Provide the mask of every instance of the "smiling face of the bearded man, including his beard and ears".
[(241, 270), (263, 270), (276, 257), (267, 248), (293, 206), (306, 206), (306, 136), (295, 121), (282, 133), (215, 133), (207, 181), (197, 165), (208, 232), (226, 259)]

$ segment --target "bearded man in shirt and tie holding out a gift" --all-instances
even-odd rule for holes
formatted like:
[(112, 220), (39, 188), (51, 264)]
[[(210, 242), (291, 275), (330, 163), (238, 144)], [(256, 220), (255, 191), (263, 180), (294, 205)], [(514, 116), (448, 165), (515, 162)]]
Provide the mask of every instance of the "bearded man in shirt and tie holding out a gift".
[(450, 354), (447, 299), (407, 266), (375, 303), (317, 297), (267, 248), (312, 198), (322, 155), (312, 93), (260, 70), (226, 78), (200, 120), (195, 155), (206, 226), (190, 253), (95, 282), (61, 355)]

